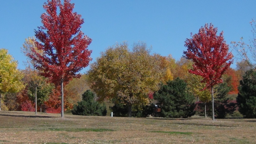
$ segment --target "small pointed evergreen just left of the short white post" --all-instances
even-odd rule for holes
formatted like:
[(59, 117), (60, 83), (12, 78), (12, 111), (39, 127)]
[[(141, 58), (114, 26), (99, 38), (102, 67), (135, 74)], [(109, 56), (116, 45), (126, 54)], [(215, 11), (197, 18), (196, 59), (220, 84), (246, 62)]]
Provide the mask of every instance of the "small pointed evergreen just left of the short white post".
[(73, 115), (83, 116), (106, 116), (107, 110), (105, 104), (101, 105), (95, 101), (95, 94), (91, 90), (87, 90), (82, 95), (82, 100), (74, 105), (71, 110)]

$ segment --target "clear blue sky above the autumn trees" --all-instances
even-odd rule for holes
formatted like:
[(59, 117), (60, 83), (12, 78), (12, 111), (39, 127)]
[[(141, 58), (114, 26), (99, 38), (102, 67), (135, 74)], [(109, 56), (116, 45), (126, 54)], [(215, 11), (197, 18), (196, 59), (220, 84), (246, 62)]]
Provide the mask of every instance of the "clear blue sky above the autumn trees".
[[(1, 1), (0, 48), (18, 60), (24, 69), (26, 57), (20, 48), (25, 38), (34, 36), (34, 29), (42, 26), (41, 14), (46, 0)], [(109, 46), (127, 41), (130, 46), (143, 41), (152, 46), (152, 52), (163, 56), (171, 54), (179, 60), (186, 51), (184, 41), (190, 33), (197, 33), (205, 23), (212, 23), (224, 31), (227, 44), (251, 33), (249, 22), (256, 18), (256, 1), (238, 0), (71, 0), (74, 12), (82, 15), (81, 30), (92, 38), (88, 49), (93, 61)], [(231, 49), (230, 49), (231, 50)], [(235, 68), (235, 65), (232, 66)], [(89, 67), (88, 67), (89, 68)], [(85, 68), (81, 72), (88, 70)]]

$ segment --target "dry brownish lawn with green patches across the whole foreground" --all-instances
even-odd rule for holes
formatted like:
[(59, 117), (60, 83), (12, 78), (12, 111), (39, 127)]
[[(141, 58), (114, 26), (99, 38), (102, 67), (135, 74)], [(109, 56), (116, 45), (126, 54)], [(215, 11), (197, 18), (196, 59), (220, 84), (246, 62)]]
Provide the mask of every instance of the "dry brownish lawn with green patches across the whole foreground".
[(64, 116), (0, 111), (0, 143), (256, 143), (256, 119)]

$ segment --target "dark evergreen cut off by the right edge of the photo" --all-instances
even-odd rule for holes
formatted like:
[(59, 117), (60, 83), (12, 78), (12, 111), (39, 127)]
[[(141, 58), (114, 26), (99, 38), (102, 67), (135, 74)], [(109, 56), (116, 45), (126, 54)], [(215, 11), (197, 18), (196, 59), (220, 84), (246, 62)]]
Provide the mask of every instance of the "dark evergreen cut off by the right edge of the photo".
[(239, 112), (246, 118), (256, 118), (256, 72), (254, 70), (245, 72), (238, 91), (236, 101)]

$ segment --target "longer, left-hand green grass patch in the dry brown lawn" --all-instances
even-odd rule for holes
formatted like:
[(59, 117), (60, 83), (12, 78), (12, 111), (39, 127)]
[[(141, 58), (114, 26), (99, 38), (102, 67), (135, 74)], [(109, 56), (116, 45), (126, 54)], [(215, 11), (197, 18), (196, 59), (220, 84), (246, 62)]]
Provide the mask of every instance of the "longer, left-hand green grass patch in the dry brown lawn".
[(66, 132), (113, 132), (111, 129), (93, 129), (93, 128), (78, 128), (78, 129), (65, 129), (65, 128), (49, 128), (51, 131), (66, 131)]

